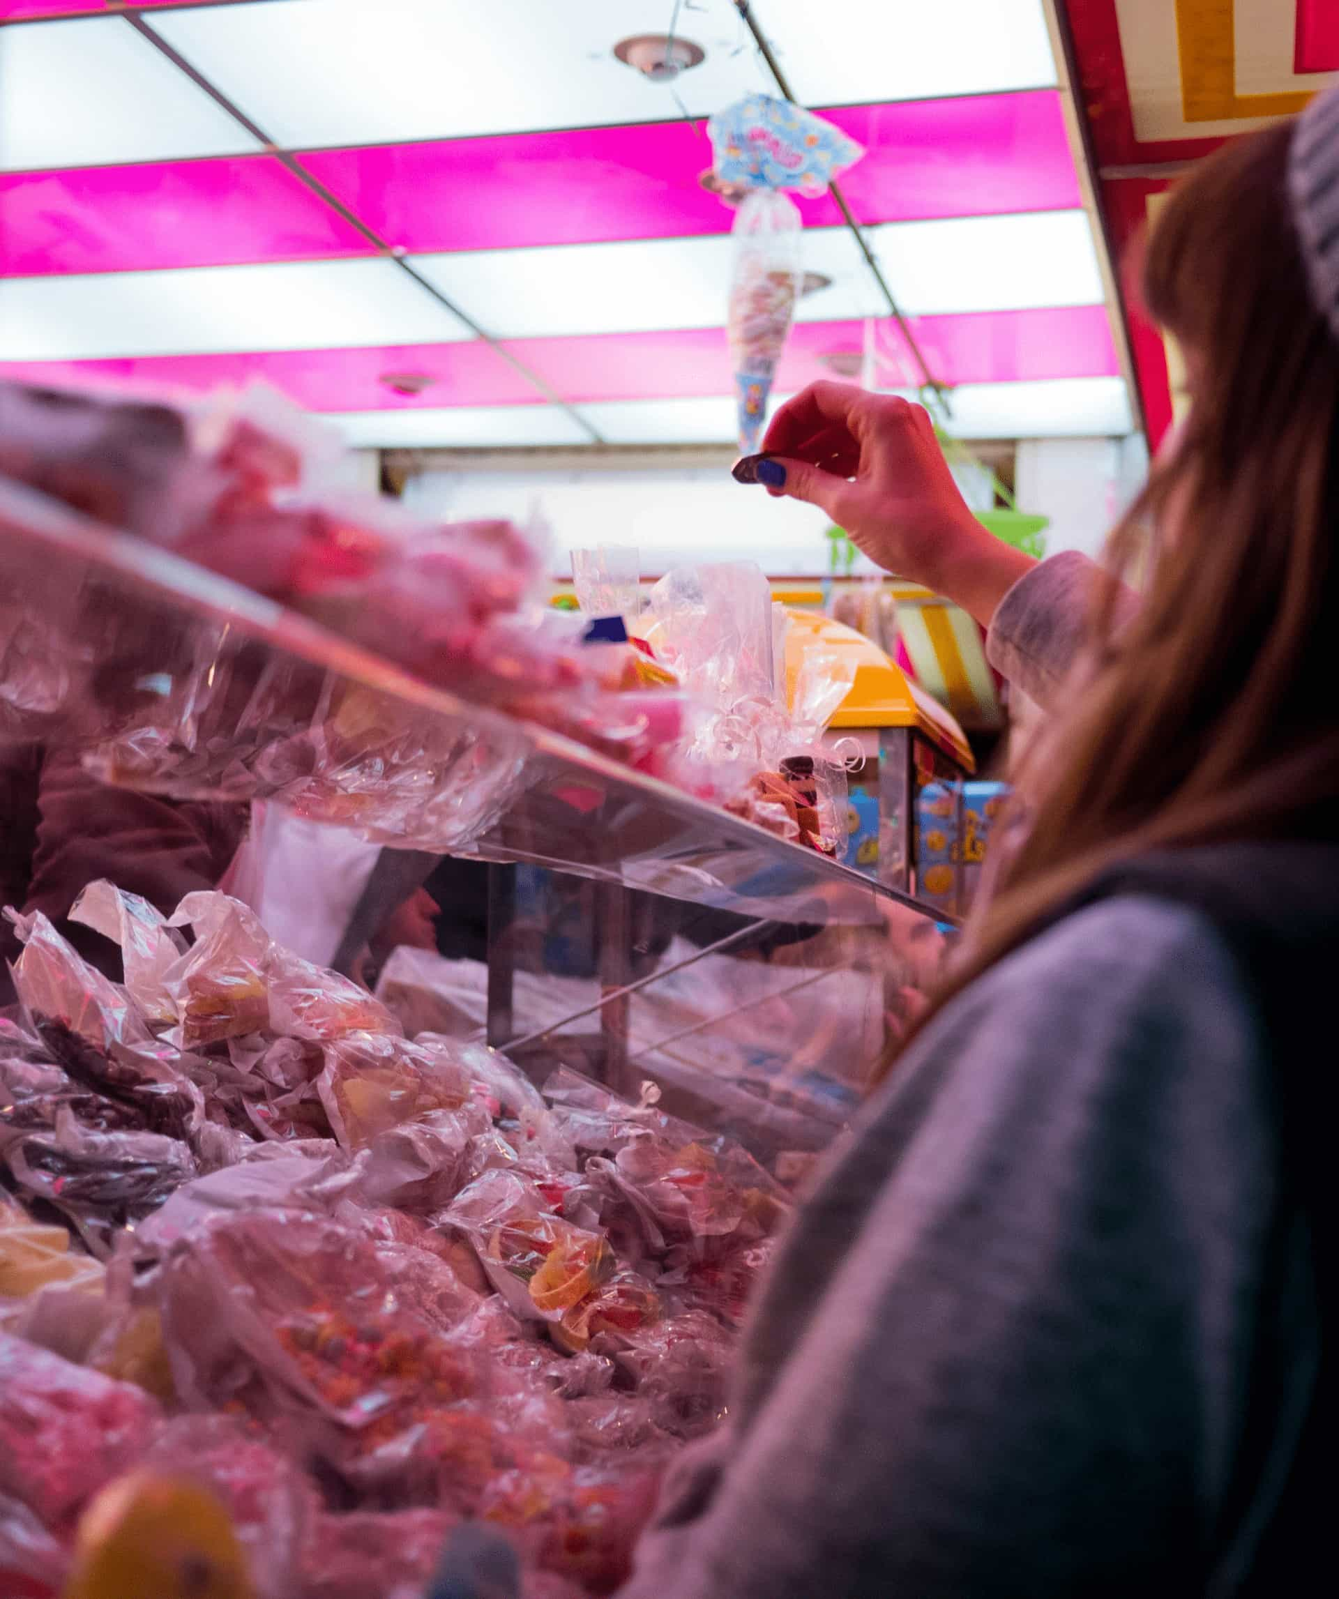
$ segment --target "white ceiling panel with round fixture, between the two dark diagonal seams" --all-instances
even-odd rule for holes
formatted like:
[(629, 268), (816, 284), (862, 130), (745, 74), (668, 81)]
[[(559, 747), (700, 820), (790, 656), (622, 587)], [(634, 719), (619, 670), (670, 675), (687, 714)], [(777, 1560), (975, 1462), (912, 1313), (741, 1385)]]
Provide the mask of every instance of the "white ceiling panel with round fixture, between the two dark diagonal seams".
[(262, 0), (154, 26), (272, 139), (315, 147), (673, 122), (769, 86), (731, 0), (694, 0), (707, 59), (673, 91), (614, 59), (669, 19), (666, 0)]

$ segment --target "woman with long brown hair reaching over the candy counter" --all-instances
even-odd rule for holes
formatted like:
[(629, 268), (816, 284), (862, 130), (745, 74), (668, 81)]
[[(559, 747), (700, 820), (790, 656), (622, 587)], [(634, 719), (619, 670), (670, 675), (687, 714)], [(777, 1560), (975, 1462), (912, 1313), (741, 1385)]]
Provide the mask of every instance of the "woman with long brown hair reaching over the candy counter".
[(776, 417), (771, 489), (989, 622), (1061, 715), (626, 1599), (1333, 1591), (1336, 224), (1334, 96), (1171, 198), (1145, 299), (1197, 381), (1113, 537), (1128, 569), (1157, 534), (1133, 616), (990, 540), (915, 406), (819, 385)]

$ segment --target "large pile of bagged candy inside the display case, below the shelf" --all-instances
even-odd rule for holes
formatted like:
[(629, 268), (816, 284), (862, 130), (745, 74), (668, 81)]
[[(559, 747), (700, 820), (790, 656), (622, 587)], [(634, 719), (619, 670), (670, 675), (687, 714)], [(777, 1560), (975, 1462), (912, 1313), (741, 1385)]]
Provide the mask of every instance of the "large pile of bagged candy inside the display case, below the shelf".
[(467, 1521), (526, 1599), (613, 1591), (721, 1414), (781, 1185), (650, 1091), (405, 1038), (222, 894), (91, 884), (123, 982), (10, 915), (0, 1593), (58, 1594), (146, 1466), (218, 1497), (259, 1599), (421, 1594)]

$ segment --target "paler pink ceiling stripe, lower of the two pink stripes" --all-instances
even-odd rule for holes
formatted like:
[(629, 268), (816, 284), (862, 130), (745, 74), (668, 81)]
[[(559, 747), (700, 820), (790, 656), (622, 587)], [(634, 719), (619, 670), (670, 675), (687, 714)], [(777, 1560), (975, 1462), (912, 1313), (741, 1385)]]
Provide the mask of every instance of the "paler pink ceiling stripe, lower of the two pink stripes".
[[(883, 347), (891, 352), (891, 360), (880, 368), (880, 381), (886, 387), (909, 384), (913, 366), (901, 352), (894, 325), (880, 323), (878, 333)], [(1120, 371), (1101, 305), (921, 317), (915, 333), (931, 369), (947, 384), (1107, 377)], [(861, 321), (801, 323), (790, 334), (776, 387), (785, 392), (821, 377), (832, 379), (838, 374), (824, 357), (859, 355), (862, 347)], [(518, 339), (507, 349), (573, 403), (705, 398), (731, 392), (721, 328)], [(398, 395), (381, 382), (389, 374), (424, 374), (434, 382), (418, 395)], [(547, 398), (482, 341), (259, 355), (27, 361), (0, 365), (0, 377), (32, 382), (85, 377), (187, 390), (259, 381), (309, 411), (526, 405)]]

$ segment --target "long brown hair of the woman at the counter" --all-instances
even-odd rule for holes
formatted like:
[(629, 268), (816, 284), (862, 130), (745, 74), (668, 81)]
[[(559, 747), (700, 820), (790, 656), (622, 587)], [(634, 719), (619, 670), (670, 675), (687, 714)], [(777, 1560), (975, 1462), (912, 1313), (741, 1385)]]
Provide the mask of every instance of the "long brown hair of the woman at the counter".
[(1289, 138), (1203, 161), (1149, 240), (1144, 304), (1190, 352), (1193, 403), (1112, 534), (1086, 681), (1024, 763), (1025, 841), (936, 1009), (1117, 862), (1339, 838), (1339, 344), (1288, 211)]

